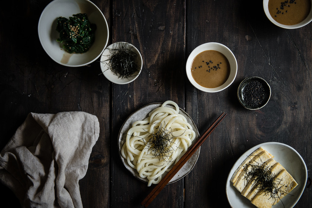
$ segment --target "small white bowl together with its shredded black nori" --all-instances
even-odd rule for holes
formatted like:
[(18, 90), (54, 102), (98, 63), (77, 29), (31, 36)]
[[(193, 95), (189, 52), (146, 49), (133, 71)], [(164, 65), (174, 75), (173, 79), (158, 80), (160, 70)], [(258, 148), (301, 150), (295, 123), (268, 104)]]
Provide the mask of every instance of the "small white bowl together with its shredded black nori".
[(103, 75), (115, 84), (128, 84), (141, 73), (142, 55), (134, 45), (116, 42), (102, 53), (100, 67)]

